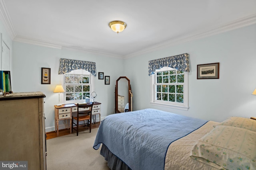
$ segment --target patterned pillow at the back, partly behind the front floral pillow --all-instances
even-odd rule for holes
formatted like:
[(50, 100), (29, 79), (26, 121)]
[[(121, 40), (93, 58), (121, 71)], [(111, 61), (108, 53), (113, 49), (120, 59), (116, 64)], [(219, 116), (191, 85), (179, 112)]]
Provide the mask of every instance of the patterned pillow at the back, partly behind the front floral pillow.
[(230, 117), (218, 125), (240, 127), (256, 132), (256, 120), (244, 117)]

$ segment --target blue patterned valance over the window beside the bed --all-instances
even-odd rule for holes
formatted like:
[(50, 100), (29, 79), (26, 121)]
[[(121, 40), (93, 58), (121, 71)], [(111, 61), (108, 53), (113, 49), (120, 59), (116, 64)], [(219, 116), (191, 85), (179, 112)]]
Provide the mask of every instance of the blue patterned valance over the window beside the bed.
[(148, 75), (154, 74), (157, 69), (162, 67), (171, 67), (178, 71), (189, 72), (188, 54), (185, 53), (148, 61)]

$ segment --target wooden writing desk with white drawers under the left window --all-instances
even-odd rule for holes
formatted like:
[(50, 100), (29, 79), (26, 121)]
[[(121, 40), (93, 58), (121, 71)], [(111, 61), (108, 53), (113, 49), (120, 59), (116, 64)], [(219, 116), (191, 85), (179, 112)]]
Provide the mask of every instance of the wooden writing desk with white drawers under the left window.
[[(92, 118), (93, 123), (96, 123), (96, 115), (100, 117), (100, 105), (99, 102), (93, 102), (92, 106)], [(55, 131), (57, 131), (57, 136), (59, 136), (59, 121), (69, 119), (70, 120), (70, 133), (72, 133), (72, 112), (77, 112), (77, 106), (75, 104), (62, 104), (61, 106), (54, 105), (55, 107)]]

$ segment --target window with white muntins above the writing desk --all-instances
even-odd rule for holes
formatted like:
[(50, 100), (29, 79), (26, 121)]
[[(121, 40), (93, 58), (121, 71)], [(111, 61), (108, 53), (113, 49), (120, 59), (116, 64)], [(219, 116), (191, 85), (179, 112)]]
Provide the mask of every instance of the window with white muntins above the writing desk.
[(86, 98), (90, 98), (94, 89), (94, 76), (85, 72), (86, 74), (64, 74), (65, 103), (85, 102)]

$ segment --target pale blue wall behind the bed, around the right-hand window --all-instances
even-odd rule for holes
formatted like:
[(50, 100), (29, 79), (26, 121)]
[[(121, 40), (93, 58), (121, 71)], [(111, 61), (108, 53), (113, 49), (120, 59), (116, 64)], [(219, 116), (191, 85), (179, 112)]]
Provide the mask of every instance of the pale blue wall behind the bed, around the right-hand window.
[[(148, 61), (188, 53), (189, 109), (150, 105)], [(197, 80), (197, 64), (220, 63), (220, 79)], [(256, 116), (256, 24), (126, 59), (133, 108), (156, 108), (207, 120)]]

